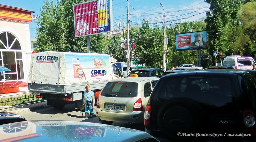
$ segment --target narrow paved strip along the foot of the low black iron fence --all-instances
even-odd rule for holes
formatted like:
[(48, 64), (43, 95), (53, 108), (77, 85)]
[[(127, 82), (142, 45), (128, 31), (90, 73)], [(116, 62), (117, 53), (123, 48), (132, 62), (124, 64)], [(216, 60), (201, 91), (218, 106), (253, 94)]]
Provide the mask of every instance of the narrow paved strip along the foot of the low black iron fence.
[(52, 107), (52, 106), (48, 106), (47, 102), (41, 102), (41, 103), (30, 104), (30, 105), (25, 105), (25, 106), (6, 108), (1, 111), (8, 111), (8, 112), (12, 112), (14, 114), (20, 114), (20, 113), (25, 113), (25, 112), (34, 111), (37, 109), (43, 109), (43, 108), (47, 108), (47, 107)]

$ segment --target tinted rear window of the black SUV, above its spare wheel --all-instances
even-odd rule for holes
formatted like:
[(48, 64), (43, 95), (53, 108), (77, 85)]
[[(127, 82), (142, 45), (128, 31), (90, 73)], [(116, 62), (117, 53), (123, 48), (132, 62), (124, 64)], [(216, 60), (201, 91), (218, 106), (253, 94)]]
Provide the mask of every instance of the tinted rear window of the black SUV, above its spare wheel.
[(174, 97), (188, 97), (201, 103), (207, 110), (230, 111), (234, 106), (234, 88), (228, 76), (169, 77), (157, 88), (157, 98), (165, 102)]

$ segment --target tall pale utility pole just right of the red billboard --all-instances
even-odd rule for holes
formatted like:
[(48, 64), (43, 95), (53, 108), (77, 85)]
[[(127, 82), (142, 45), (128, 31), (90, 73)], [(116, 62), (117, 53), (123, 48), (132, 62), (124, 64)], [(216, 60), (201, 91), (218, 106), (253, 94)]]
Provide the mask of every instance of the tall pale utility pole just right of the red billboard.
[(130, 15), (129, 15), (129, 0), (127, 0), (127, 75), (130, 73)]

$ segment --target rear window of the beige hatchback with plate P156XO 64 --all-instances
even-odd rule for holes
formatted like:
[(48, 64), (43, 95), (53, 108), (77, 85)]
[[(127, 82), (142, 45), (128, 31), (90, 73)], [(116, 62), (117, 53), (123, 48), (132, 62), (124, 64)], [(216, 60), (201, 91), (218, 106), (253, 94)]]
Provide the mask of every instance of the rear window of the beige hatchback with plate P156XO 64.
[(138, 83), (134, 82), (109, 82), (101, 91), (100, 95), (106, 97), (136, 97)]

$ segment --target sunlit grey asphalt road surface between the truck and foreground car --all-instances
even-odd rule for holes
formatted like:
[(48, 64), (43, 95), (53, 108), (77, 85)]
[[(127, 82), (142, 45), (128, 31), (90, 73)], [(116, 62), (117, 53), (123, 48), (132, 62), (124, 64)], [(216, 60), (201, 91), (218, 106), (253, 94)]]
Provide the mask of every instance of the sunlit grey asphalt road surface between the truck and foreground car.
[[(36, 109), (31, 111), (25, 111), (18, 113), (26, 120), (63, 120), (63, 121), (81, 121), (81, 122), (94, 122), (101, 123), (98, 117), (84, 118), (82, 117), (82, 111), (76, 110), (75, 105), (66, 105), (63, 109), (55, 109), (53, 107), (47, 107), (43, 109)], [(126, 127), (136, 130), (144, 131), (144, 127), (138, 124), (129, 124), (122, 122), (113, 122), (112, 125)], [(154, 136), (161, 142), (170, 142), (168, 139), (161, 136)]]

